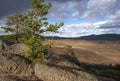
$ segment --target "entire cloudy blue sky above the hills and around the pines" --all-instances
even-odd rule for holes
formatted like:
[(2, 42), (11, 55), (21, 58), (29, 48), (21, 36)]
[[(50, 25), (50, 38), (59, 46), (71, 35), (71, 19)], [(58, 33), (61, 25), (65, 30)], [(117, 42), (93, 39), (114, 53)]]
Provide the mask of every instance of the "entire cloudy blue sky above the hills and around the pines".
[[(0, 26), (6, 17), (25, 12), (30, 0), (3, 0), (0, 2)], [(50, 23), (64, 22), (59, 33), (49, 36), (79, 37), (90, 34), (120, 34), (120, 0), (46, 0), (52, 3), (47, 17)], [(0, 34), (3, 34), (0, 29)]]

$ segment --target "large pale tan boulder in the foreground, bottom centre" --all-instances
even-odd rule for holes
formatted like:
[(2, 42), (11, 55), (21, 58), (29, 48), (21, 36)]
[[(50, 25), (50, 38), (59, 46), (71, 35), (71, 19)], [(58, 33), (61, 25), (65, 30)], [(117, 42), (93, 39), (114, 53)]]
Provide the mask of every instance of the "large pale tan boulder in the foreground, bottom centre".
[(36, 64), (35, 75), (43, 81), (98, 81), (94, 75), (87, 72), (54, 65)]

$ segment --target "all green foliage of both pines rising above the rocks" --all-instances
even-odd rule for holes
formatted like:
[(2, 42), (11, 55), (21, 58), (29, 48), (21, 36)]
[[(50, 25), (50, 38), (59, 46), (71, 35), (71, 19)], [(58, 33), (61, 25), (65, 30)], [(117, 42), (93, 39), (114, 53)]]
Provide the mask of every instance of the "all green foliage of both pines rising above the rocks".
[(63, 26), (60, 24), (49, 24), (45, 17), (48, 10), (52, 7), (50, 3), (45, 4), (44, 0), (31, 0), (31, 9), (25, 14), (17, 13), (7, 18), (5, 27), (2, 27), (8, 34), (9, 40), (17, 43), (21, 42), (29, 47), (29, 51), (24, 53), (24, 57), (31, 61), (45, 59), (47, 48), (51, 43), (43, 45), (40, 40), (43, 39), (44, 32), (57, 32)]

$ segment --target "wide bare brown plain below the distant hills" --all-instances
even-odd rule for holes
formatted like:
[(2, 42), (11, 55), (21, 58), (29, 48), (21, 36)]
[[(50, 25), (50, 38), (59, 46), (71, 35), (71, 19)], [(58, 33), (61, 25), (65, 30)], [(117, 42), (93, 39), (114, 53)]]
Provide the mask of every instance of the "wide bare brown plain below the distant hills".
[[(47, 41), (48, 42), (48, 41)], [(66, 54), (65, 45), (71, 45), (79, 61), (92, 64), (120, 64), (119, 41), (54, 40), (53, 54)]]

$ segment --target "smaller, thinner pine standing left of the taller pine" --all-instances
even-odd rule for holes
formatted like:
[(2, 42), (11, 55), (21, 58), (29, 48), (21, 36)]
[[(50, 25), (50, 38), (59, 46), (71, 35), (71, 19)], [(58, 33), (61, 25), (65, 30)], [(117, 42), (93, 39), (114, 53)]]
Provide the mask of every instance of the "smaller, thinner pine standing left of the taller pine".
[[(11, 35), (7, 35), (8, 39), (12, 39), (16, 42), (19, 40), (20, 33), (22, 33), (22, 23), (24, 21), (24, 15), (20, 13), (16, 13), (13, 16), (9, 16), (7, 18), (7, 23), (5, 27), (2, 27), (5, 32), (11, 33)], [(14, 34), (13, 34), (14, 33)]]

